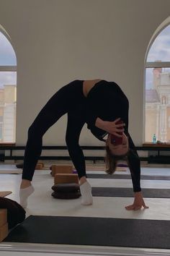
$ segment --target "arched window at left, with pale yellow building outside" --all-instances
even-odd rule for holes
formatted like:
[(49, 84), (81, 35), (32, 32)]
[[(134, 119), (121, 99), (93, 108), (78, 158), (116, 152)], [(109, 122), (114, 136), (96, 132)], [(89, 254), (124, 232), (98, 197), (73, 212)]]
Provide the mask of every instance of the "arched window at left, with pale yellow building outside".
[(0, 25), (0, 143), (16, 135), (17, 59), (10, 37)]

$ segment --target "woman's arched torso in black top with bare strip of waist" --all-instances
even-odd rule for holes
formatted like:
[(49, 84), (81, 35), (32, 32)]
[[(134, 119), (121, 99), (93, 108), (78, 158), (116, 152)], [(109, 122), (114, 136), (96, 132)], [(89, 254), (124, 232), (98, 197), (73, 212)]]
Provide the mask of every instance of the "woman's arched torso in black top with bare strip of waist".
[(96, 113), (105, 121), (115, 121), (120, 117), (128, 127), (128, 98), (117, 83), (106, 80), (86, 80), (83, 83), (83, 89), (88, 115)]

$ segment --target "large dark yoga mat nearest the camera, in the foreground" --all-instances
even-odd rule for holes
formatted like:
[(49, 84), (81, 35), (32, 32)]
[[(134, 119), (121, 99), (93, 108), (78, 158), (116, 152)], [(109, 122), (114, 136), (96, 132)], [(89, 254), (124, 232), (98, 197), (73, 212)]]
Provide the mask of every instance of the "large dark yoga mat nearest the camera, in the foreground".
[(30, 216), (4, 240), (170, 249), (169, 241), (170, 221), (57, 216)]

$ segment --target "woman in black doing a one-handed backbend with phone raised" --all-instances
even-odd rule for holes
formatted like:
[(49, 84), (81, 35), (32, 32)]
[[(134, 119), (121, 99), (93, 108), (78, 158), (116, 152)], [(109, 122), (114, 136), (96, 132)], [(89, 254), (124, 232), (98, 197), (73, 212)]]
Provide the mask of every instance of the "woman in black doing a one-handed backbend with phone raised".
[[(115, 171), (117, 158), (127, 155), (135, 199), (133, 205), (127, 206), (126, 209), (138, 210), (142, 206), (147, 208), (140, 189), (140, 160), (128, 134), (128, 99), (115, 82), (105, 80), (75, 80), (65, 85), (50, 98), (37, 115), (28, 130), (19, 192), (21, 205), (27, 207), (27, 197), (34, 192), (31, 181), (42, 151), (42, 136), (64, 114), (68, 114), (66, 145), (79, 175), (81, 204), (93, 203), (91, 186), (86, 181), (84, 154), (79, 146), (81, 129), (86, 123), (91, 133), (99, 140), (104, 140), (104, 136), (108, 134), (106, 141), (108, 173)], [(120, 119), (123, 123), (117, 124)], [(120, 135), (120, 132), (123, 134)], [(122, 137), (121, 144), (114, 145), (111, 142), (111, 135)]]

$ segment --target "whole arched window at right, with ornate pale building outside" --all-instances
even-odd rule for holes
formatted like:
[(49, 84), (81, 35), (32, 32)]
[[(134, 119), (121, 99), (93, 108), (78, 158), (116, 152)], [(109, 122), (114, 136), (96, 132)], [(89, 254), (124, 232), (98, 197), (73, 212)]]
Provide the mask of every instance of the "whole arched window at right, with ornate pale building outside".
[(170, 142), (170, 25), (158, 31), (146, 56), (145, 142)]

